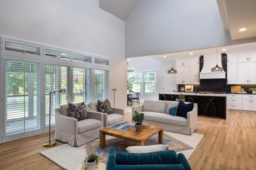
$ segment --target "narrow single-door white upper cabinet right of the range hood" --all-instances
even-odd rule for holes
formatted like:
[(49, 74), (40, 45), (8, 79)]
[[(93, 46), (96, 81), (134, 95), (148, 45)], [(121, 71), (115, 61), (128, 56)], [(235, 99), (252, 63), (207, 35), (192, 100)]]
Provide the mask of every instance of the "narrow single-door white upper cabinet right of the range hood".
[(227, 84), (238, 84), (238, 63), (228, 63), (227, 70)]

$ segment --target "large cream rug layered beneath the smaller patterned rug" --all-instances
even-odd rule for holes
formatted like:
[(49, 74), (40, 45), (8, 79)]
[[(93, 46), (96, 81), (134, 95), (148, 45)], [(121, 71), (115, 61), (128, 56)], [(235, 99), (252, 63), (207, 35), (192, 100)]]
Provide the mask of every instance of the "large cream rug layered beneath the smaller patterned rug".
[[(175, 143), (184, 143), (185, 145), (180, 145), (180, 147), (174, 147), (174, 150), (180, 150), (177, 153), (183, 153), (187, 159), (191, 156), (191, 154), (194, 152), (196, 149), (197, 145), (200, 143), (204, 135), (198, 134), (198, 133), (193, 133), (192, 135), (183, 135), (180, 133), (172, 133), (172, 132), (166, 132), (164, 131), (164, 137), (166, 135), (169, 135), (173, 139), (173, 142), (176, 141)], [(107, 142), (109, 139), (116, 139), (115, 137), (110, 137), (106, 135), (106, 147), (108, 147)], [(158, 138), (157, 138), (158, 140)], [(84, 158), (87, 156), (87, 152), (102, 152), (100, 154), (103, 154), (106, 151), (100, 151), (103, 150), (100, 147), (96, 147), (96, 141), (99, 141), (99, 139), (96, 139), (95, 141), (92, 141), (90, 143), (87, 143), (85, 145), (82, 145), (80, 147), (72, 147), (71, 145), (68, 144), (63, 144), (57, 147), (53, 147), (51, 149), (43, 150), (40, 152), (43, 156), (60, 166), (64, 170), (75, 170), (80, 164), (84, 161)], [(164, 141), (166, 142), (166, 141)], [(146, 142), (145, 142), (146, 143)], [(147, 141), (148, 143), (148, 141)], [(149, 141), (150, 143), (150, 141)], [(157, 143), (157, 141), (156, 141)], [(91, 149), (92, 151), (89, 151), (90, 149), (88, 148), (89, 145), (94, 145), (96, 149)], [(146, 145), (146, 144), (145, 144)], [(173, 146), (178, 146), (178, 145), (173, 145)], [(187, 146), (188, 145), (188, 146)], [(131, 146), (131, 145), (130, 145)], [(184, 150), (186, 149), (187, 150)], [(192, 148), (192, 149), (189, 149)], [(97, 151), (99, 149), (99, 151)], [(88, 151), (87, 151), (88, 150)], [(117, 147), (115, 147), (115, 150), (118, 150)], [(107, 158), (107, 157), (106, 157)], [(105, 158), (103, 158), (105, 159)], [(103, 161), (102, 159), (102, 161)]]

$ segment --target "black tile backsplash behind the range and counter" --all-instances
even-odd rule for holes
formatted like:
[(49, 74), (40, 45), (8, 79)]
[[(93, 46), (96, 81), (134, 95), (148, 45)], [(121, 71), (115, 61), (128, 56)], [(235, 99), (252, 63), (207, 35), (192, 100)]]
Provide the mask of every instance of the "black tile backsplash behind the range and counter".
[[(224, 71), (227, 72), (227, 55), (222, 54), (222, 67)], [(200, 57), (200, 70), (204, 64), (204, 56)], [(187, 84), (186, 84), (187, 85)], [(246, 92), (249, 88), (256, 88), (256, 84), (227, 84), (226, 78), (221, 79), (201, 79), (200, 84), (194, 85), (194, 91), (197, 86), (197, 92), (200, 91), (210, 91), (210, 92), (231, 92), (231, 86), (241, 86)], [(178, 84), (178, 92), (180, 92), (180, 87), (185, 87), (185, 84)]]

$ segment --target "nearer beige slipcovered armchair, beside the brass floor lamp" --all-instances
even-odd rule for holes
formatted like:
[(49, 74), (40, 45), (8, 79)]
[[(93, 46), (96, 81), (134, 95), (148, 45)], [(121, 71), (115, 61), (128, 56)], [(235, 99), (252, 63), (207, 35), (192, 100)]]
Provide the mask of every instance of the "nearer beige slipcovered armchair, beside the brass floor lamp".
[[(77, 104), (74, 104), (77, 105)], [(88, 106), (86, 106), (87, 109)], [(55, 139), (72, 146), (80, 146), (84, 143), (99, 138), (99, 131), (103, 129), (103, 114), (87, 110), (89, 119), (80, 120), (70, 117), (68, 104), (54, 109), (55, 113)]]

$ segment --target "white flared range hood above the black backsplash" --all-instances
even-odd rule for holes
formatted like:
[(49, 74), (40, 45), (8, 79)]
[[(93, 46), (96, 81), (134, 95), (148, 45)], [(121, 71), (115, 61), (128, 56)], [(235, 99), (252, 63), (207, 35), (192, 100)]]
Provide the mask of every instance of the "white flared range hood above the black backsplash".
[[(218, 59), (216, 59), (218, 57)], [(216, 66), (218, 61), (218, 66), (222, 67), (221, 64), (221, 53), (216, 54), (207, 54), (204, 55), (204, 65), (199, 74), (200, 79), (216, 79), (216, 78), (226, 78), (226, 72), (211, 72), (211, 68)]]

